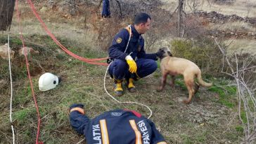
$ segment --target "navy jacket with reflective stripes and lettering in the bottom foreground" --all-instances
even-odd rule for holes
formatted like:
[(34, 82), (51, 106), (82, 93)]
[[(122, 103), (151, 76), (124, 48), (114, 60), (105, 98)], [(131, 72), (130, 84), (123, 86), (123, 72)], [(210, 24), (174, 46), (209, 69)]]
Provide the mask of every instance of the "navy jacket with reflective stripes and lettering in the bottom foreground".
[(74, 110), (70, 123), (79, 134), (84, 134), (88, 144), (166, 144), (155, 124), (132, 110), (108, 111), (92, 120)]

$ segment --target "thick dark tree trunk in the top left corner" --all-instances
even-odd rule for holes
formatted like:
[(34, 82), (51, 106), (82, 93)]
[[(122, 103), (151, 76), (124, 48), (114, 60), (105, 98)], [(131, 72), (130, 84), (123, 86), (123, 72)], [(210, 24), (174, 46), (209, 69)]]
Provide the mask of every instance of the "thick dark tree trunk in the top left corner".
[(0, 31), (10, 30), (15, 0), (0, 0)]

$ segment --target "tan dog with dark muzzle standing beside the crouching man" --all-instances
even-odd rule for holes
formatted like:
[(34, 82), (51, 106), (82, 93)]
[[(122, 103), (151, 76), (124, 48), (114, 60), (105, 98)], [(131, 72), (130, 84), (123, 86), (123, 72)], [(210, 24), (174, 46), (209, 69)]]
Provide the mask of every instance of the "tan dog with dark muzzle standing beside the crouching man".
[(196, 94), (199, 88), (199, 85), (194, 82), (195, 75), (197, 76), (200, 85), (205, 87), (212, 86), (212, 83), (203, 81), (201, 71), (198, 66), (188, 59), (172, 57), (172, 53), (168, 48), (160, 48), (157, 55), (160, 58), (160, 68), (162, 71), (162, 80), (158, 91), (162, 91), (165, 87), (167, 75), (172, 76), (172, 82), (170, 83), (172, 87), (174, 86), (174, 76), (183, 75), (185, 85), (189, 93), (189, 97), (184, 100), (184, 103), (188, 104), (191, 102), (192, 97)]

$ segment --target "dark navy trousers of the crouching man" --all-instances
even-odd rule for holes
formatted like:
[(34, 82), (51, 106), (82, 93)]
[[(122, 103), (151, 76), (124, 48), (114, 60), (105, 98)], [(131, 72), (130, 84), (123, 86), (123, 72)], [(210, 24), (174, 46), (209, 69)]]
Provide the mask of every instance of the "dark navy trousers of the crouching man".
[(137, 59), (137, 72), (129, 72), (129, 65), (121, 59), (115, 59), (109, 66), (108, 73), (116, 80), (124, 78), (143, 78), (158, 69), (158, 64), (153, 59)]

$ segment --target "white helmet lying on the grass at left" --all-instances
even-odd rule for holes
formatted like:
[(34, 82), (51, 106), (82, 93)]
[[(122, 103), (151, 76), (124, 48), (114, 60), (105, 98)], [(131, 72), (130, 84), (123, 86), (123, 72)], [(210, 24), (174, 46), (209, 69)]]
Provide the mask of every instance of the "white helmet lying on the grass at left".
[(39, 78), (39, 90), (46, 91), (55, 88), (60, 82), (60, 78), (51, 73), (44, 73)]

